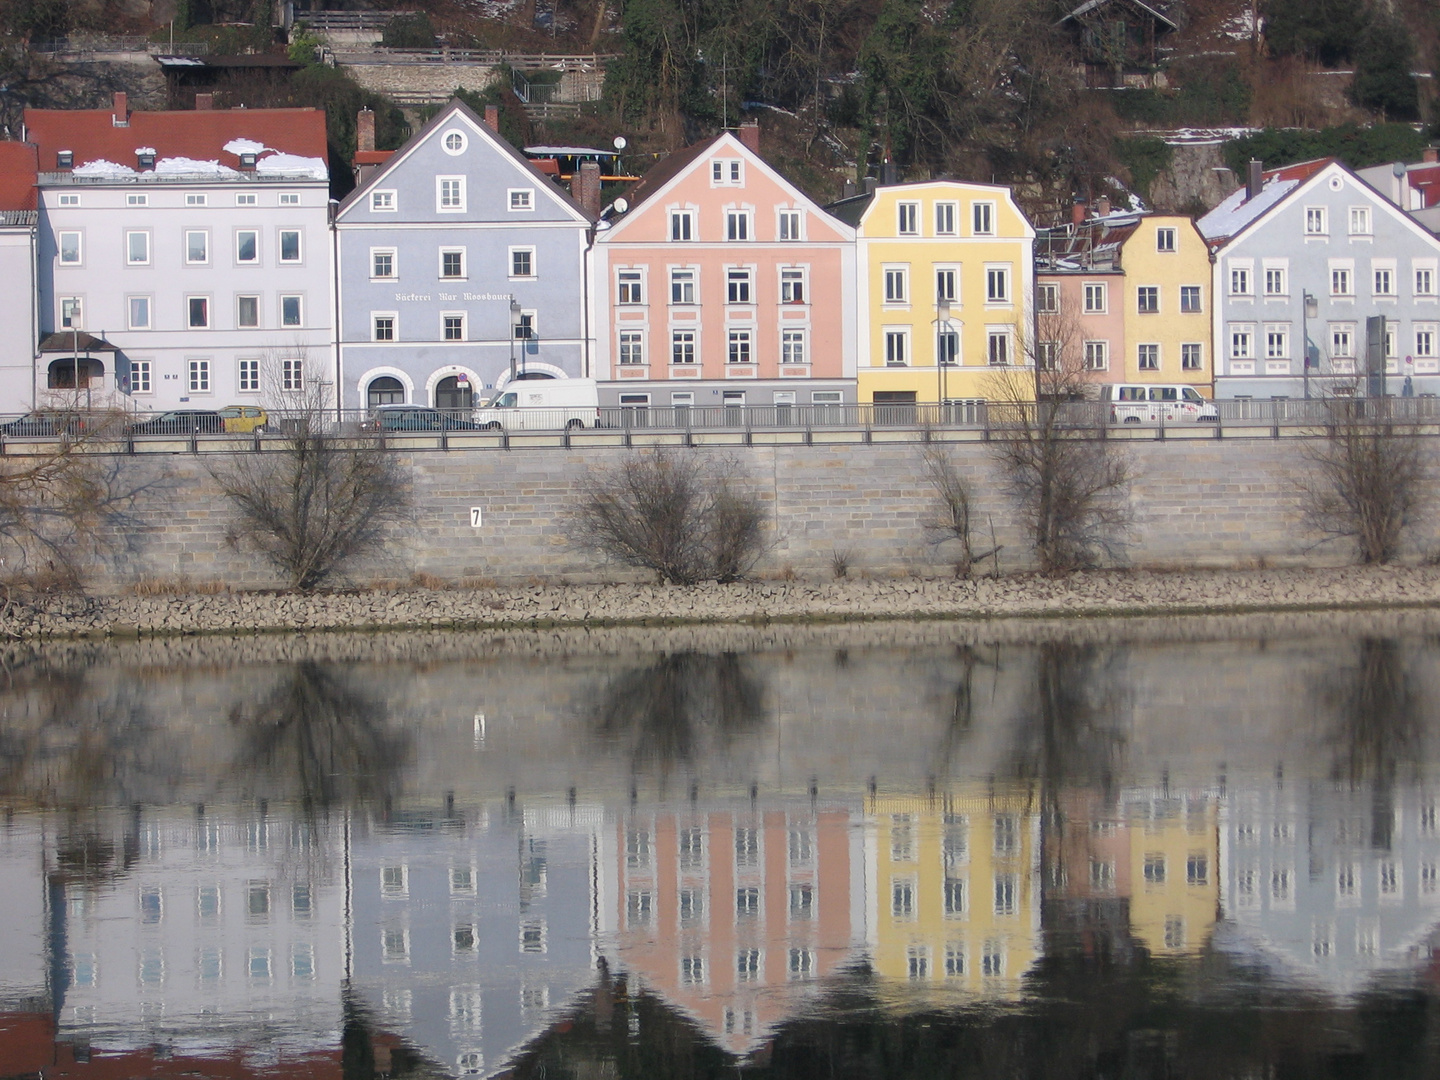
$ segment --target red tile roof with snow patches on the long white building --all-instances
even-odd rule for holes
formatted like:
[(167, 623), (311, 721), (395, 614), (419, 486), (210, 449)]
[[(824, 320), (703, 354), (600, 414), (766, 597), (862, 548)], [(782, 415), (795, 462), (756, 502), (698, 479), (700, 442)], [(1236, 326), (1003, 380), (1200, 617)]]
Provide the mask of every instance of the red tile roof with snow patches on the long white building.
[(236, 168), (239, 157), (225, 153), (233, 138), (300, 157), (327, 157), (324, 109), (131, 111), (127, 127), (115, 127), (114, 117), (112, 109), (26, 109), (24, 131), (40, 151), (40, 171), (58, 168), (59, 150), (73, 151), (76, 166), (105, 160), (132, 167), (140, 147), (153, 148), (157, 157)]

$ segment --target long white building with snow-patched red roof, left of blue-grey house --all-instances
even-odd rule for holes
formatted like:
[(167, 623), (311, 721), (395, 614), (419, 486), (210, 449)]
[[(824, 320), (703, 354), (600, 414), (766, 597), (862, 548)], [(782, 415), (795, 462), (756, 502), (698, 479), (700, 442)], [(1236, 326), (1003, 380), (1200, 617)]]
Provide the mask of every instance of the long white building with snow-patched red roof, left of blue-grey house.
[(323, 111), (140, 112), (117, 94), (26, 109), (24, 134), (42, 400), (207, 409), (333, 377)]

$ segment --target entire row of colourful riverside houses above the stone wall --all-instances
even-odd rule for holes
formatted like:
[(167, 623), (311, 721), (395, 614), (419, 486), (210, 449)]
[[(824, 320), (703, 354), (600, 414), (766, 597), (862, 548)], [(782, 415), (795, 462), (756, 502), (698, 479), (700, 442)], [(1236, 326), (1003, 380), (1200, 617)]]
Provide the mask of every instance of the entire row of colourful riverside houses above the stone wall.
[(1037, 230), (995, 184), (821, 206), (753, 122), (608, 206), (599, 151), (521, 151), (458, 101), (397, 151), (372, 114), (359, 130), (336, 203), (317, 109), (26, 109), (0, 143), (0, 412), (76, 389), (274, 405), (315, 379), (347, 409), (543, 377), (636, 408), (903, 405), (1053, 357), (1096, 384), (1300, 397), (1356, 390), (1375, 315), (1384, 392), (1440, 393), (1433, 154), (1254, 163), (1198, 220), (1102, 199)]

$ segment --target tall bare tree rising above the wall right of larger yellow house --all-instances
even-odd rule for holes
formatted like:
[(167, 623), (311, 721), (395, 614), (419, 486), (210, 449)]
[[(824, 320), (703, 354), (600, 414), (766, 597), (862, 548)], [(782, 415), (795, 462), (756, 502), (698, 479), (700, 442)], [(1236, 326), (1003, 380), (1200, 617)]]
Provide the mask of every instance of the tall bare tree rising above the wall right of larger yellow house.
[(989, 377), (991, 448), (1020, 508), (1040, 569), (1063, 573), (1116, 557), (1130, 523), (1132, 471), (1106, 436), (1106, 416), (1087, 399), (1093, 373), (1077, 320), (1040, 314), (1021, 341), (1025, 363)]

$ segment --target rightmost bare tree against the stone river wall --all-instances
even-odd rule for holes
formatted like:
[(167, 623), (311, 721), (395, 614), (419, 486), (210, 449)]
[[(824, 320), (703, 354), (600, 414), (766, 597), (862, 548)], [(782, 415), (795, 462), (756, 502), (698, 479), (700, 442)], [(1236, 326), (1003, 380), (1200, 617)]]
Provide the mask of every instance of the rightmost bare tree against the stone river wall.
[(1326, 399), (1325, 433), (1302, 451), (1310, 467), (1300, 482), (1306, 521), (1323, 534), (1319, 543), (1354, 540), (1362, 563), (1394, 559), (1430, 503), (1421, 441), (1384, 406)]

